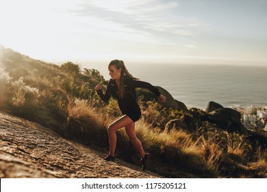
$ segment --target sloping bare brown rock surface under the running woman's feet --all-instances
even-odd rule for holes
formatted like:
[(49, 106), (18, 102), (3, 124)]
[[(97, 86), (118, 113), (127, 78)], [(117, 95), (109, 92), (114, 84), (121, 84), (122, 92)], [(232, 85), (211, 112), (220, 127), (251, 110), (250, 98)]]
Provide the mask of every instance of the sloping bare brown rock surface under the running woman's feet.
[(0, 178), (157, 178), (122, 160), (62, 138), (42, 125), (0, 112)]

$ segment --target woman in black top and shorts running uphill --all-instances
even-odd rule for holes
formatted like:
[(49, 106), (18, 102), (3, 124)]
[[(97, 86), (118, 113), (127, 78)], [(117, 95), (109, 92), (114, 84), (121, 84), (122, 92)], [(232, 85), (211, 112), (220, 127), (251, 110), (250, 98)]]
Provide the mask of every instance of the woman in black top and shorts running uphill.
[(141, 156), (140, 163), (142, 163), (143, 169), (146, 169), (149, 165), (150, 154), (144, 153), (142, 143), (136, 137), (135, 124), (141, 117), (141, 110), (136, 101), (136, 90), (135, 88), (148, 88), (150, 91), (155, 93), (157, 97), (163, 103), (166, 100), (164, 95), (161, 95), (155, 86), (147, 82), (142, 82), (137, 78), (133, 77), (126, 69), (125, 64), (122, 60), (112, 60), (108, 66), (110, 76), (112, 79), (107, 83), (107, 89), (105, 95), (101, 88), (102, 84), (98, 84), (95, 87), (95, 91), (99, 94), (103, 101), (108, 101), (112, 95), (118, 100), (118, 106), (120, 111), (123, 113), (123, 117), (111, 123), (108, 128), (108, 138), (110, 143), (110, 153), (105, 156), (105, 160), (115, 160), (115, 148), (116, 148), (116, 130), (125, 127), (125, 131), (129, 136), (129, 140), (138, 149)]

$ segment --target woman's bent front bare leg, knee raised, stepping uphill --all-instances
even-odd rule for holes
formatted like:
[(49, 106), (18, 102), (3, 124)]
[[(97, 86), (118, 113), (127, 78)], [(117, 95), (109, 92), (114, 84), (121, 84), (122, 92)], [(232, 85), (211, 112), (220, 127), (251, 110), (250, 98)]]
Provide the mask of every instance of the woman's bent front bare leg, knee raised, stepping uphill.
[(117, 119), (108, 126), (107, 132), (110, 143), (110, 156), (115, 156), (115, 149), (117, 143), (116, 130), (123, 128), (131, 123), (133, 123), (131, 118), (129, 118), (127, 115), (123, 115), (123, 117), (120, 117), (120, 119)]

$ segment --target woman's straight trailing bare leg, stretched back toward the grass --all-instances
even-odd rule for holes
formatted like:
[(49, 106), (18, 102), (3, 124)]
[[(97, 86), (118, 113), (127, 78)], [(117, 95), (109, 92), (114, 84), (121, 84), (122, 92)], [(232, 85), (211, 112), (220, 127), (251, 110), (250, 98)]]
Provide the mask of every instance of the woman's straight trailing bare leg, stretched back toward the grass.
[(144, 158), (144, 149), (142, 147), (141, 141), (136, 137), (136, 131), (135, 131), (135, 124), (134, 122), (125, 126), (125, 131), (127, 135), (129, 136), (129, 139), (131, 143), (136, 147), (138, 150), (141, 158)]

